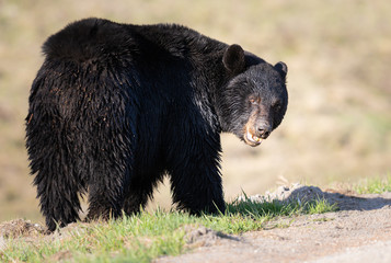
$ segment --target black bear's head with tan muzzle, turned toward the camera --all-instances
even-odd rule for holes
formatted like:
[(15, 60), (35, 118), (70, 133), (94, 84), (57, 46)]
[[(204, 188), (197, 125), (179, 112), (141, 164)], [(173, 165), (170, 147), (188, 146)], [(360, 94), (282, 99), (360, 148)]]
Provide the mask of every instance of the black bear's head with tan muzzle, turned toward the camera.
[(288, 68), (284, 62), (272, 66), (239, 45), (226, 49), (222, 64), (229, 76), (218, 99), (222, 130), (258, 146), (284, 118)]

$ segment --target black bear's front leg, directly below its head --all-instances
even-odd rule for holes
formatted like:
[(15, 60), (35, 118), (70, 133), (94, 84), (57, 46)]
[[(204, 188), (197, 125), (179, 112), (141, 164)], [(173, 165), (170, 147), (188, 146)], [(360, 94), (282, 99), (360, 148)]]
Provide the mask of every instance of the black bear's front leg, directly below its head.
[(173, 150), (176, 153), (169, 155), (173, 202), (191, 214), (223, 214), (219, 135), (193, 136), (180, 145), (180, 149)]

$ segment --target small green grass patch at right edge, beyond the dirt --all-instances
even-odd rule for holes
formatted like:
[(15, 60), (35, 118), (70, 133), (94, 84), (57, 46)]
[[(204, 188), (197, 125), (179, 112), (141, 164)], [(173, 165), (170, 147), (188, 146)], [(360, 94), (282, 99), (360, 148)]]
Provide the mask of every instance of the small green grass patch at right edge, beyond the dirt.
[(384, 192), (391, 192), (391, 175), (388, 175), (384, 179), (366, 179), (355, 185), (354, 191), (358, 194), (381, 194)]

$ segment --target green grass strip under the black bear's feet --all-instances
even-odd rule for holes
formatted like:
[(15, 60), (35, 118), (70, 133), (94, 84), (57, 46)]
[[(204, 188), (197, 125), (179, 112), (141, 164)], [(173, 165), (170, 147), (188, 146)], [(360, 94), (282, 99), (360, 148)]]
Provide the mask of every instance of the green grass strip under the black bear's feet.
[(186, 213), (140, 213), (108, 222), (80, 224), (60, 238), (10, 239), (0, 252), (1, 262), (150, 262), (162, 255), (185, 252), (185, 226), (205, 226), (238, 235), (263, 229), (265, 222), (281, 216), (335, 210), (323, 199), (306, 204), (254, 203), (250, 199), (228, 204), (225, 215), (189, 216)]

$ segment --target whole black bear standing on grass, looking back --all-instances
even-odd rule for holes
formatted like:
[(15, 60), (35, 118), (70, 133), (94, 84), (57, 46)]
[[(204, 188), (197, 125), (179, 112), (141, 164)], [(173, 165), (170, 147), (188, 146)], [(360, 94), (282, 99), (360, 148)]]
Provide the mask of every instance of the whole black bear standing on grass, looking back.
[(49, 230), (133, 214), (170, 176), (192, 214), (225, 211), (220, 133), (257, 146), (283, 121), (287, 66), (175, 24), (87, 19), (51, 35), (26, 148)]

